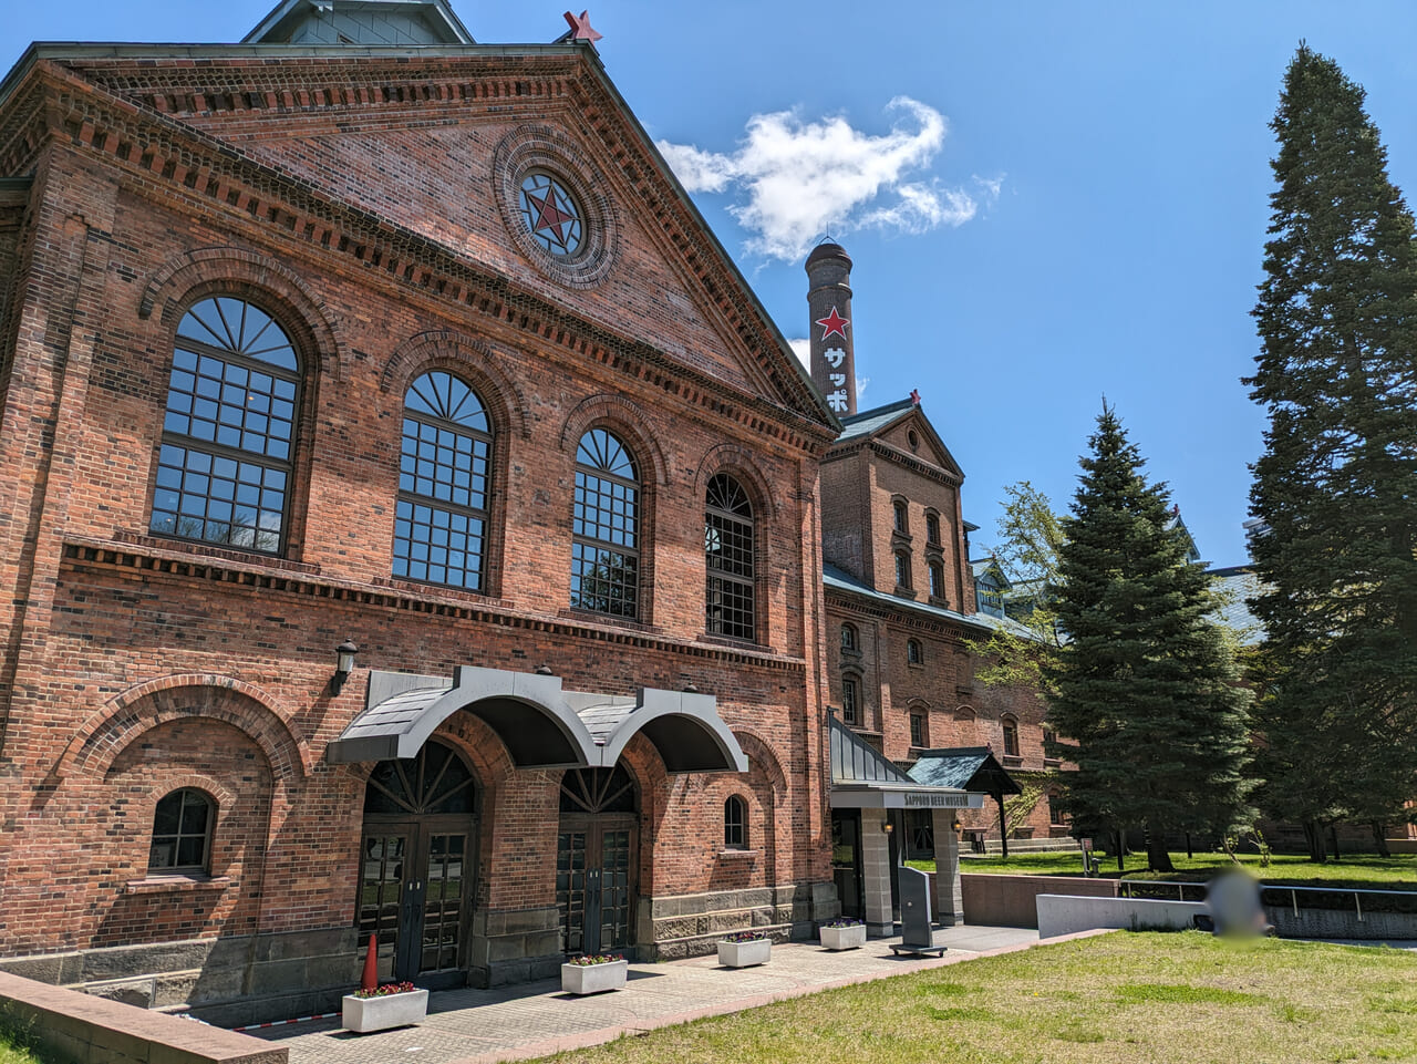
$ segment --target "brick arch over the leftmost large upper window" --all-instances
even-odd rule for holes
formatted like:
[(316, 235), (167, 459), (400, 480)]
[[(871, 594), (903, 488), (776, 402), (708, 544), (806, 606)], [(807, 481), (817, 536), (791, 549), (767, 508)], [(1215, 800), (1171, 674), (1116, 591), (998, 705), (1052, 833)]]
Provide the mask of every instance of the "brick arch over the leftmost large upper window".
[(349, 344), (336, 326), (324, 300), (315, 289), (292, 269), (273, 258), (245, 248), (194, 248), (169, 258), (159, 266), (143, 289), (137, 316), (143, 320), (159, 310), (159, 320), (169, 329), (177, 327), (181, 312), (203, 296), (232, 288), (259, 299), (269, 293), (282, 300), (300, 326), (298, 340), (312, 350), (319, 361), (320, 374), (332, 380), (343, 380), (344, 367), (350, 364)]

